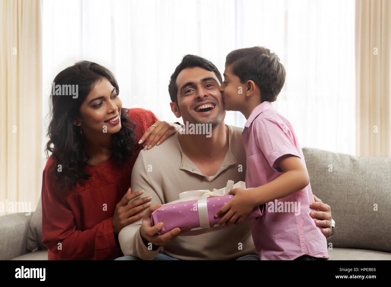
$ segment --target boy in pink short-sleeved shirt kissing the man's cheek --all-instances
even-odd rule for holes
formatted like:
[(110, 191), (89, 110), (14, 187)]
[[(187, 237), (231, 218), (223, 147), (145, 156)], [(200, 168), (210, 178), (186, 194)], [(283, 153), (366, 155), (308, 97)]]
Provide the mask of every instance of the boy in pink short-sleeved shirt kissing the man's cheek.
[(261, 260), (327, 259), (327, 243), (309, 213), (313, 198), (300, 144), (291, 123), (271, 102), (284, 82), (285, 68), (264, 47), (238, 49), (226, 57), (220, 87), (227, 111), (247, 119), (242, 132), (246, 148), (246, 187), (216, 212), (219, 225), (239, 225), (257, 205), (267, 203), (264, 216), (251, 221), (253, 241)]

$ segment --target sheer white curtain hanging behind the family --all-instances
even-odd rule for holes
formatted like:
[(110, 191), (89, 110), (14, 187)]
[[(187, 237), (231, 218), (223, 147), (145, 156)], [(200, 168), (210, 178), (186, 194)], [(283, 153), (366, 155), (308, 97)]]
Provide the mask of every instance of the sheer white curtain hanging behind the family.
[[(274, 107), (291, 121), (301, 146), (354, 154), (354, 5), (354, 0), (43, 0), (43, 84), (75, 61), (95, 61), (117, 77), (124, 107), (176, 121), (167, 86), (183, 55), (205, 57), (222, 73), (231, 50), (266, 46), (287, 70)], [(47, 100), (43, 103), (47, 111)], [(245, 122), (239, 112), (227, 112), (226, 123)]]

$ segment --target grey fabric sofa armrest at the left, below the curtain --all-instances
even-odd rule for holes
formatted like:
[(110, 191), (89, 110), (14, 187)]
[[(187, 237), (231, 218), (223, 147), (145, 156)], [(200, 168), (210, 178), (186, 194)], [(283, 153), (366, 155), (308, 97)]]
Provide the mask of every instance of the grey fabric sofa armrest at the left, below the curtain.
[(27, 230), (33, 212), (27, 216), (25, 212), (0, 216), (0, 260), (10, 260), (28, 252)]

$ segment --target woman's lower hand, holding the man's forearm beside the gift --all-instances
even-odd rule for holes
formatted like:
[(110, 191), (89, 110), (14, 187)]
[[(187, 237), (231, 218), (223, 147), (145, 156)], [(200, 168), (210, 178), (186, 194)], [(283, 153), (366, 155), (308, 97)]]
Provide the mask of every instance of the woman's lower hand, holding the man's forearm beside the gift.
[[(114, 216), (113, 216), (113, 233), (118, 235), (121, 229), (125, 226), (136, 222), (138, 219), (143, 218), (144, 212), (137, 214), (138, 212), (147, 209), (151, 202), (147, 202), (151, 200), (151, 197), (144, 197), (138, 200), (132, 200), (137, 196), (143, 194), (143, 191), (138, 191), (136, 193), (132, 193), (132, 188), (129, 187), (126, 194), (122, 197), (120, 202), (115, 207)], [(129, 202), (129, 203), (128, 203)], [(135, 215), (137, 214), (137, 215)]]

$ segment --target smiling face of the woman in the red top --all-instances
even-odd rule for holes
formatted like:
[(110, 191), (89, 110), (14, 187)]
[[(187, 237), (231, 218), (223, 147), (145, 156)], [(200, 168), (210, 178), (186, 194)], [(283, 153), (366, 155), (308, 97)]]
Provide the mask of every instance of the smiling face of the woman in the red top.
[[(83, 134), (115, 134), (121, 128), (122, 102), (107, 78), (95, 84), (80, 107), (79, 121)], [(76, 121), (74, 124), (77, 125)]]

